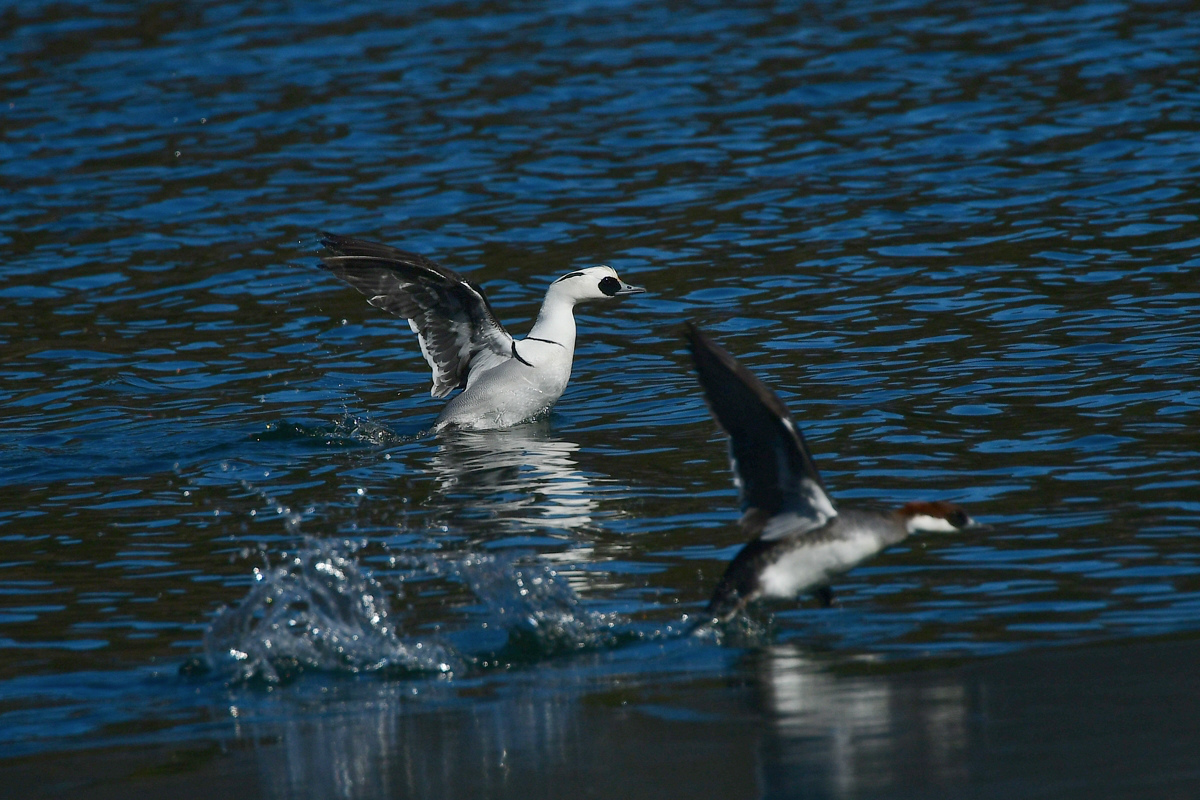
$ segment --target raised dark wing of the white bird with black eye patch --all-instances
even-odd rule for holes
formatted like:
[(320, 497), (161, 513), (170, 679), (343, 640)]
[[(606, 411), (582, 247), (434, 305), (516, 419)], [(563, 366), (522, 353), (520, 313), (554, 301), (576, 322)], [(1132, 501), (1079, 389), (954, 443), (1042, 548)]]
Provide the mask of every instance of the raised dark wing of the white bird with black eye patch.
[(512, 357), (512, 337), (484, 291), (454, 270), (376, 242), (322, 234), (323, 266), (377, 308), (402, 317), (433, 371), (434, 397), (467, 384), (472, 367)]

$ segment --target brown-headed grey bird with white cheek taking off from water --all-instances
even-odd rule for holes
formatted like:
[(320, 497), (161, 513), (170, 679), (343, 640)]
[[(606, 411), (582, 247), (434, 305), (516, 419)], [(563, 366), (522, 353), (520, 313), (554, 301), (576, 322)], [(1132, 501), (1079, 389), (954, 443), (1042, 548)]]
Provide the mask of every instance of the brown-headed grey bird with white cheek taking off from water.
[(733, 558), (708, 603), (731, 619), (758, 597), (816, 593), (829, 603), (829, 582), (918, 530), (974, 525), (950, 503), (908, 503), (890, 512), (834, 509), (804, 434), (782, 401), (737, 360), (689, 324), (688, 344), (708, 405), (730, 437), (733, 482), (742, 494), (742, 528), (754, 536)]

